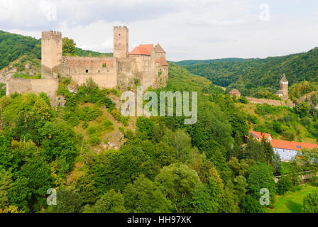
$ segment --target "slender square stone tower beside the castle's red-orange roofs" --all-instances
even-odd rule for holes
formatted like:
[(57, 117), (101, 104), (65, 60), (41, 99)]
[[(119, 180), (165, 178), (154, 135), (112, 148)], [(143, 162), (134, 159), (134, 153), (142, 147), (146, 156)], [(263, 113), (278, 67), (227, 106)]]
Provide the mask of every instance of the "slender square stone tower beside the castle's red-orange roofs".
[(114, 27), (114, 57), (128, 57), (128, 28), (126, 26)]

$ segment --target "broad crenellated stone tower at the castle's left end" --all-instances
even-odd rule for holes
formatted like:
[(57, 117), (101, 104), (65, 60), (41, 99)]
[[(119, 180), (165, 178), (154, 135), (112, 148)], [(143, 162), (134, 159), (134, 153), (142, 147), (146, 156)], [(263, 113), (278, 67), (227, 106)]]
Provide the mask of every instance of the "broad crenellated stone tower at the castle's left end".
[(42, 78), (57, 77), (57, 71), (62, 65), (62, 33), (59, 31), (43, 31), (41, 40)]

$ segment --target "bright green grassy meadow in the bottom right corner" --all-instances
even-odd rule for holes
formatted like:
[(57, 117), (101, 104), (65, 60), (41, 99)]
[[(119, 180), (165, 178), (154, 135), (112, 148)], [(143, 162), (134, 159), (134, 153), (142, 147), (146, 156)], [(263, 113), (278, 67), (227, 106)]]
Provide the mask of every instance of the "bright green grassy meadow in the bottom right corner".
[(317, 187), (309, 184), (297, 187), (295, 192), (287, 192), (283, 196), (277, 196), (274, 209), (267, 209), (268, 213), (300, 213), (302, 211), (302, 199)]

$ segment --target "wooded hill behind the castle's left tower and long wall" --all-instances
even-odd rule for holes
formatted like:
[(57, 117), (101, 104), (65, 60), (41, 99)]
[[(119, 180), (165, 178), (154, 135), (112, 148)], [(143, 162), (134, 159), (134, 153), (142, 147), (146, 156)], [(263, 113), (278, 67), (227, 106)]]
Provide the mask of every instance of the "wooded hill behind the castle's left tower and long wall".
[[(82, 57), (112, 56), (112, 53), (94, 52), (76, 48), (76, 54)], [(17, 60), (18, 57), (28, 55), (40, 59), (41, 40), (29, 36), (0, 31), (0, 70)]]

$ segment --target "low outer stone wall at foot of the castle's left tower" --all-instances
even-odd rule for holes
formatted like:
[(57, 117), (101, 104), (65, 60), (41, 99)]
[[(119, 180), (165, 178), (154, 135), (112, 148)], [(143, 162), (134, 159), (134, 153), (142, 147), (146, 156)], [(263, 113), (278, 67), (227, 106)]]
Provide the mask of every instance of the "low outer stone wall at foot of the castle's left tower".
[(18, 94), (23, 94), (24, 92), (40, 94), (40, 92), (45, 92), (52, 100), (56, 94), (57, 88), (57, 79), (11, 78), (6, 81), (6, 95), (10, 95), (15, 92)]

